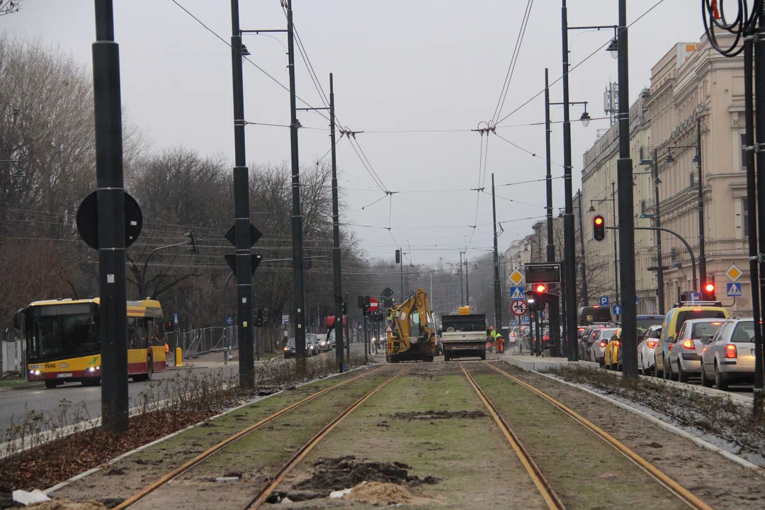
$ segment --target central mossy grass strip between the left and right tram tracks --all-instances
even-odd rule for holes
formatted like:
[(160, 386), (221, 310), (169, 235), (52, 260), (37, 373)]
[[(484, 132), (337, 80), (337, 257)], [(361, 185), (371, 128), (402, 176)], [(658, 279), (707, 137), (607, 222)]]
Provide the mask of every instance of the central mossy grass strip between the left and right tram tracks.
[(456, 364), (415, 365), (347, 417), (282, 485), (287, 489), (311, 476), (311, 466), (321, 457), (345, 455), (405, 463), (412, 466), (412, 475), (441, 479), (412, 489), (431, 500), (418, 508), (544, 507), (532, 480)]

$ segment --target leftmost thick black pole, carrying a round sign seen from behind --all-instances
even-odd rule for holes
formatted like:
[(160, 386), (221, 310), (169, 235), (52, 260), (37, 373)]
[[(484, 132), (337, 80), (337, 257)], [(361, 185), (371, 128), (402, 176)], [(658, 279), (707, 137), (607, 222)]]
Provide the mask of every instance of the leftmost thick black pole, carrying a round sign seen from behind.
[(109, 432), (125, 432), (129, 427), (128, 304), (119, 45), (114, 41), (112, 0), (96, 0), (95, 11), (93, 106), (99, 212), (101, 426)]

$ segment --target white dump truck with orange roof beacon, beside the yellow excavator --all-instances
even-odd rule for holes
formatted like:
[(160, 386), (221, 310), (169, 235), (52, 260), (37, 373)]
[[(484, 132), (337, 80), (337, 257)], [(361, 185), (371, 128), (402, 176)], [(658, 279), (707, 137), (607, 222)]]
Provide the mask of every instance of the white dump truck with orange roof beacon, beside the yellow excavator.
[[(486, 359), (486, 315), (461, 307), (457, 315), (441, 317), (444, 361), (457, 358)], [(467, 313), (465, 313), (467, 312)]]

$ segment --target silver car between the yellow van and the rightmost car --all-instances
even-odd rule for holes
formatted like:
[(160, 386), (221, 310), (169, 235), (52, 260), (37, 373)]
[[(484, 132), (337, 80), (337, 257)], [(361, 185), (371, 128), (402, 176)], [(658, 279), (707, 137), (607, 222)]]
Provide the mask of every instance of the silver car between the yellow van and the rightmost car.
[(675, 337), (675, 345), (669, 350), (664, 378), (688, 382), (690, 375), (701, 375), (702, 351), (721, 324), (722, 321), (717, 319), (686, 320)]

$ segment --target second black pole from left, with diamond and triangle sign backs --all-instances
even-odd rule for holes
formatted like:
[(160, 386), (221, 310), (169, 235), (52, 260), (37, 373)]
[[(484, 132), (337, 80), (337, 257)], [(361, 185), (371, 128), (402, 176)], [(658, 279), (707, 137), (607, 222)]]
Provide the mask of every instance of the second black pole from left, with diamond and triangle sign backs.
[(249, 170), (244, 120), (242, 32), (239, 0), (231, 0), (231, 73), (234, 107), (234, 228), (236, 236), (236, 336), (239, 340), (239, 386), (255, 387), (252, 346), (252, 255), (249, 222)]

